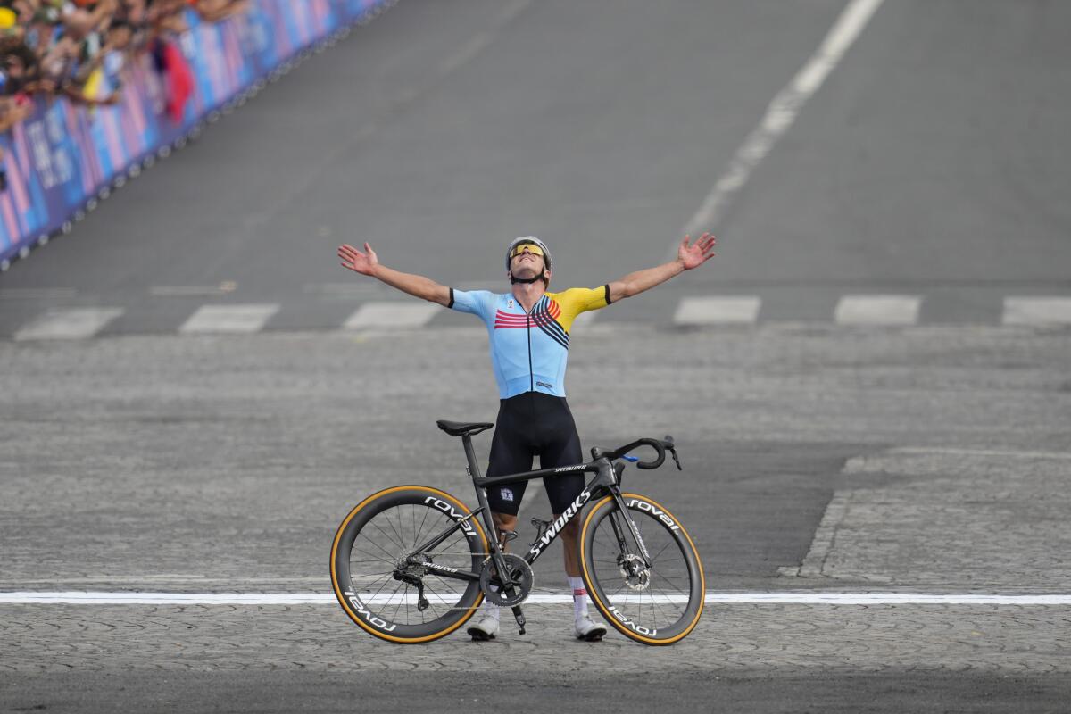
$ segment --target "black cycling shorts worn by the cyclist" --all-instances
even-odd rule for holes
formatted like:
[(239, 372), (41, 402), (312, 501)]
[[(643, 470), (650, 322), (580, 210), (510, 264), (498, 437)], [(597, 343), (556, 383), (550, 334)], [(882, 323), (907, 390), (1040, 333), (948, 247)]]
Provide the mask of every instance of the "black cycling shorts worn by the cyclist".
[[(539, 468), (573, 466), (584, 459), (580, 438), (576, 434), (573, 413), (564, 397), (542, 392), (525, 392), (502, 399), (491, 442), (488, 476), (504, 476), (532, 470), (532, 457), (539, 456)], [(565, 512), (584, 489), (584, 472), (563, 473), (543, 480), (550, 500), (550, 512)], [(495, 513), (517, 515), (527, 481), (492, 486), (487, 501)]]

